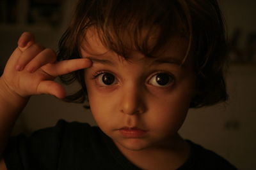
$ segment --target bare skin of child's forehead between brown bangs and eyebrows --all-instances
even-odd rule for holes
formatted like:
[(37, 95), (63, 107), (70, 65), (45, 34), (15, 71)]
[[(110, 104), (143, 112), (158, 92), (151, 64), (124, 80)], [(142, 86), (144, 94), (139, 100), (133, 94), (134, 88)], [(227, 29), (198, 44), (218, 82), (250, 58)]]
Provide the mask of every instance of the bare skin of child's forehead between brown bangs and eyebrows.
[[(88, 57), (88, 56), (104, 56), (104, 55), (117, 55), (113, 50), (109, 49), (108, 46), (104, 45), (102, 43), (102, 39), (100, 38), (101, 33), (97, 31), (94, 27), (91, 27), (86, 30), (86, 33), (84, 35), (83, 41), (81, 41), (81, 48), (80, 52), (82, 57)], [(154, 44), (156, 39), (156, 35), (152, 34), (150, 37), (148, 43)], [(128, 34), (124, 34), (122, 43), (125, 45), (125, 48), (127, 48), (127, 56), (121, 56), (121, 57), (128, 57), (131, 59), (131, 57), (134, 57), (135, 55), (132, 55), (134, 53), (140, 53), (136, 50), (134, 45), (132, 44), (132, 38)], [(188, 40), (182, 36), (173, 36), (170, 41), (168, 42), (168, 45), (159, 50), (159, 52), (155, 53), (154, 56), (156, 58), (172, 58), (174, 60), (180, 61), (182, 63), (182, 60), (186, 56), (186, 52), (188, 50)], [(138, 58), (135, 60), (150, 60), (148, 56), (143, 55), (136, 55)], [(141, 57), (143, 56), (143, 57)]]

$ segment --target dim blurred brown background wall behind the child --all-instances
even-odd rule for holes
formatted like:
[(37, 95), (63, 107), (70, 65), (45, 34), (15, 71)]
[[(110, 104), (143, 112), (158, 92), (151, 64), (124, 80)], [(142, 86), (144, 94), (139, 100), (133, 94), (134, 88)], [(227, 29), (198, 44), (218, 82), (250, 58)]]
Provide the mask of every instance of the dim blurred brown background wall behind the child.
[[(0, 71), (17, 46), (24, 31), (36, 41), (57, 50), (76, 1), (1, 0)], [(230, 100), (207, 108), (190, 110), (180, 129), (191, 139), (219, 153), (239, 169), (256, 169), (256, 22), (253, 0), (220, 0), (227, 21), (229, 57), (227, 74)], [(90, 122), (90, 111), (83, 104), (64, 103), (52, 96), (33, 96), (20, 116), (13, 135), (49, 127), (60, 119)]]

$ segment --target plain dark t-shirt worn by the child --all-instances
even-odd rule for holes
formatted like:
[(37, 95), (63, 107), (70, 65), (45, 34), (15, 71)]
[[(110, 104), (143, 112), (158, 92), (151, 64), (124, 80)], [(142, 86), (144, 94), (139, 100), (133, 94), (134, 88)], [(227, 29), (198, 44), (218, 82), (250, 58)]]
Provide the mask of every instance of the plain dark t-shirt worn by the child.
[[(236, 169), (227, 160), (191, 141), (191, 155), (183, 169)], [(139, 169), (116, 148), (99, 127), (60, 120), (55, 127), (41, 129), (29, 138), (10, 138), (4, 151), (7, 169)]]

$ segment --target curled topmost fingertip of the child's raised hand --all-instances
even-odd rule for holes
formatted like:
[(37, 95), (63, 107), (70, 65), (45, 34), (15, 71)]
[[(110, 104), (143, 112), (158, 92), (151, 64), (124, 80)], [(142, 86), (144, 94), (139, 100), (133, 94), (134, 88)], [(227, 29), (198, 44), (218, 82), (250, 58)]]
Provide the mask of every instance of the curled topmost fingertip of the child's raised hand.
[(35, 43), (35, 36), (31, 32), (23, 32), (18, 40), (18, 48), (24, 52), (29, 46)]

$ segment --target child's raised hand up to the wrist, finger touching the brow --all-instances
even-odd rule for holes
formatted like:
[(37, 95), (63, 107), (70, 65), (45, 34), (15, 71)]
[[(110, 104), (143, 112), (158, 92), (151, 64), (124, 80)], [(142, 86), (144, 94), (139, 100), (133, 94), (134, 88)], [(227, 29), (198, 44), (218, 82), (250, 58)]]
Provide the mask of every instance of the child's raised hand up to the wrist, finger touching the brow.
[(65, 97), (65, 90), (54, 78), (90, 66), (89, 59), (56, 62), (53, 50), (38, 45), (33, 34), (24, 32), (4, 68), (0, 83), (20, 97), (51, 94), (61, 99)]

